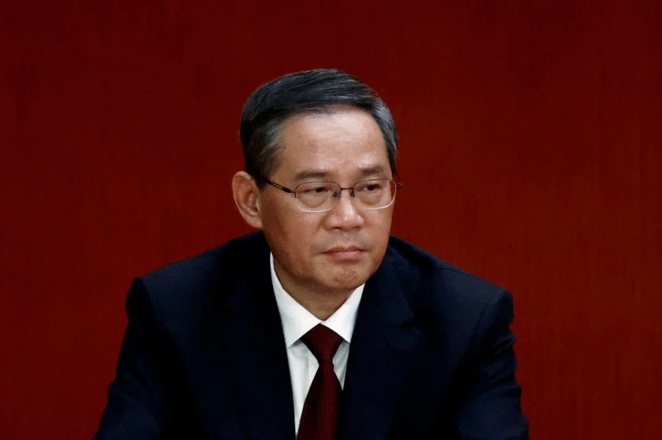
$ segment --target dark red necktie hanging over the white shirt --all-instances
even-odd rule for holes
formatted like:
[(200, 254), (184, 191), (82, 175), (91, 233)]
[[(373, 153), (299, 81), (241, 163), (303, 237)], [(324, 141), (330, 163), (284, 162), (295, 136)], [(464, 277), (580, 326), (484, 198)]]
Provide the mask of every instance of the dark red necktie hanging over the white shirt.
[(340, 382), (333, 370), (333, 356), (343, 338), (317, 324), (301, 337), (319, 362), (308, 395), (303, 402), (298, 440), (334, 440), (338, 423)]

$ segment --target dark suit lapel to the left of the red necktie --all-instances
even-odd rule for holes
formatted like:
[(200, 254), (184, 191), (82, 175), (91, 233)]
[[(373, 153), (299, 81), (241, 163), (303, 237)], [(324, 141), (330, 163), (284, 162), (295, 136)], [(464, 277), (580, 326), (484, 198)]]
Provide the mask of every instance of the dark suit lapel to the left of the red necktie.
[(270, 278), (268, 248), (240, 277), (223, 335), (240, 418), (248, 439), (294, 439), (290, 369)]

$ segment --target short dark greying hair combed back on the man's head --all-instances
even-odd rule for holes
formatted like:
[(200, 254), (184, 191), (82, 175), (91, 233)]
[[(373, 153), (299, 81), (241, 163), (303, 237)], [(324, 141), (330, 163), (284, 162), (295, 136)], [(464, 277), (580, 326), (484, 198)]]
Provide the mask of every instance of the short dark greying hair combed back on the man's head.
[(349, 105), (364, 109), (379, 126), (394, 174), (398, 134), (390, 110), (368, 85), (336, 69), (281, 76), (253, 92), (243, 105), (239, 137), (248, 174), (263, 185), (279, 165), (278, 137), (285, 120), (301, 112), (332, 112)]

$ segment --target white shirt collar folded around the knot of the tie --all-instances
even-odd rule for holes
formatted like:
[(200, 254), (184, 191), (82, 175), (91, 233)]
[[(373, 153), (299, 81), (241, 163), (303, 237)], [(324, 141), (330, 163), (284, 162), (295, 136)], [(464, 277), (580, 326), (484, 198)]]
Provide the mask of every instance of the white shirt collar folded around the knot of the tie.
[(281, 315), (285, 346), (290, 348), (294, 342), (297, 342), (311, 328), (320, 323), (336, 332), (346, 342), (351, 342), (365, 284), (361, 284), (357, 289), (354, 289), (343, 305), (333, 315), (328, 317), (328, 319), (322, 321), (306, 310), (305, 307), (299, 304), (297, 300), (294, 300), (283, 289), (283, 285), (276, 275), (276, 269), (274, 269), (274, 255), (272, 253), (270, 253), (270, 262), (271, 283), (274, 287), (274, 295), (276, 296), (278, 311)]

